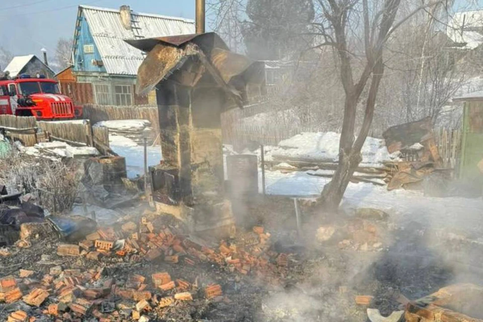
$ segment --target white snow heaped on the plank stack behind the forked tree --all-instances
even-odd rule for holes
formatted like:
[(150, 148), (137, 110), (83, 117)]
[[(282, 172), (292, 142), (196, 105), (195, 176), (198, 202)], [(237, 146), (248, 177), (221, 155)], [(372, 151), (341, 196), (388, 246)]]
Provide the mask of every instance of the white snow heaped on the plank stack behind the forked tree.
[[(278, 147), (268, 152), (273, 157), (304, 158), (319, 162), (337, 162), (341, 135), (335, 132), (304, 132), (280, 141)], [(387, 152), (384, 141), (367, 137), (362, 147), (361, 166), (381, 167), (382, 163), (397, 159)]]

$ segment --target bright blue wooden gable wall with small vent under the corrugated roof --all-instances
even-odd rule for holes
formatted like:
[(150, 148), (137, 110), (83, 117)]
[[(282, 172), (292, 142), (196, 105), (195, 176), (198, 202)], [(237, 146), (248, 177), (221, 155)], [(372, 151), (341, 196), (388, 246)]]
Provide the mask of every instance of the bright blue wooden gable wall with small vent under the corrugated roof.
[[(96, 66), (92, 63), (93, 59), (101, 60), (101, 55), (97, 49), (94, 39), (91, 35), (91, 30), (89, 29), (89, 24), (86, 21), (84, 15), (81, 15), (77, 19), (81, 20), (78, 33), (76, 33), (75, 42), (75, 57), (74, 57), (74, 71), (90, 71), (90, 72), (106, 72), (104, 66)], [(84, 45), (94, 45), (94, 53), (85, 53)]]

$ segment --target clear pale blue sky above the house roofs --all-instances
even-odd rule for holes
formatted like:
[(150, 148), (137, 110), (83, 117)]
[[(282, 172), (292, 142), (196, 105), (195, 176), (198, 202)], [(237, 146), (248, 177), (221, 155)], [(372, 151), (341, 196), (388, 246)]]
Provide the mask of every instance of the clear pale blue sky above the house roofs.
[[(468, 1), (483, 7), (483, 0), (457, 0), (456, 7)], [(0, 46), (15, 55), (37, 54), (45, 47), (54, 55), (59, 37), (73, 34), (79, 0), (0, 0)], [(119, 8), (130, 5), (137, 12), (194, 19), (195, 0), (83, 0), (80, 4)]]

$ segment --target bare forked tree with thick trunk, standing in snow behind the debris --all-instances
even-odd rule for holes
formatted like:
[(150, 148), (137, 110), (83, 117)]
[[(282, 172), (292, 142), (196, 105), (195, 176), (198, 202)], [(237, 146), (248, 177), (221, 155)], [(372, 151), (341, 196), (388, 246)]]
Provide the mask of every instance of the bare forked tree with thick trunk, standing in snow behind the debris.
[[(384, 74), (384, 48), (388, 39), (398, 27), (420, 10), (444, 3), (423, 2), (409, 15), (399, 17), (397, 11), (400, 2), (401, 0), (317, 0), (319, 21), (314, 26), (324, 40), (320, 46), (332, 46), (337, 51), (340, 78), (345, 92), (339, 165), (319, 199), (319, 203), (329, 210), (339, 207), (350, 179), (362, 161), (361, 149), (374, 118), (377, 93)], [(360, 71), (355, 68), (354, 58), (362, 62)], [(363, 99), (365, 102), (361, 104)], [(355, 137), (356, 114), (360, 105), (363, 105), (364, 117)]]

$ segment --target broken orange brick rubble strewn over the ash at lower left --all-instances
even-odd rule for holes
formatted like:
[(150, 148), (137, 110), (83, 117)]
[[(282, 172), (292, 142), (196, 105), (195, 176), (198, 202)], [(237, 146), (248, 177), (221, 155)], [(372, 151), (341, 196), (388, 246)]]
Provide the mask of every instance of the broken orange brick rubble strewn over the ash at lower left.
[[(92, 261), (111, 256), (129, 262), (164, 261), (173, 265), (216, 263), (234, 274), (252, 274), (271, 283), (280, 282), (289, 265), (288, 255), (269, 250), (270, 235), (263, 227), (254, 227), (252, 237), (240, 246), (221, 241), (218, 249), (202, 246), (173, 230), (164, 225), (155, 228), (143, 217), (138, 224), (129, 221), (119, 229), (101, 228), (77, 245), (58, 245), (57, 254), (85, 256)], [(55, 321), (81, 321), (95, 316), (101, 322), (129, 319), (146, 322), (150, 312), (162, 313), (159, 310), (179, 301), (192, 301), (199, 294), (204, 294), (206, 299), (223, 300), (222, 287), (218, 284), (205, 285), (203, 292), (198, 292), (201, 285), (197, 281), (173, 279), (168, 272), (149, 277), (133, 274), (125, 283), (118, 283), (104, 276), (103, 271), (103, 268), (63, 270), (54, 266), (49, 274), (33, 279), (35, 272), (20, 270), (18, 277), (0, 280), (0, 302), (22, 300), (40, 307), (37, 313), (52, 316)], [(34, 321), (35, 317), (16, 311), (8, 320)]]

